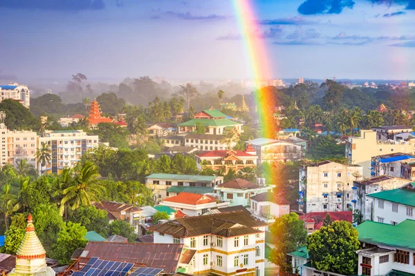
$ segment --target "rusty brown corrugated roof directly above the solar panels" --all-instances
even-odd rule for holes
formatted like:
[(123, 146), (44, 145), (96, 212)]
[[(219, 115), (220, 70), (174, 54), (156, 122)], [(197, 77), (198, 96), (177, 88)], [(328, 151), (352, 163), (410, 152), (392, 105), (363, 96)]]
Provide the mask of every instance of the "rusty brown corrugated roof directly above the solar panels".
[(181, 259), (182, 250), (183, 244), (89, 242), (85, 246), (84, 254), (85, 257), (99, 257), (163, 268), (165, 273), (173, 274)]

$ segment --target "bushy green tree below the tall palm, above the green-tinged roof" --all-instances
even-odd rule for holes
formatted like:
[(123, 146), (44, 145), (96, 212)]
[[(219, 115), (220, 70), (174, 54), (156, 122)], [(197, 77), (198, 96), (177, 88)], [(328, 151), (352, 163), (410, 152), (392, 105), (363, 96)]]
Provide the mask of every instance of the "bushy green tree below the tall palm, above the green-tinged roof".
[(105, 210), (97, 209), (95, 206), (80, 206), (69, 212), (68, 220), (81, 224), (88, 231), (95, 231), (103, 237), (108, 236), (109, 219)]

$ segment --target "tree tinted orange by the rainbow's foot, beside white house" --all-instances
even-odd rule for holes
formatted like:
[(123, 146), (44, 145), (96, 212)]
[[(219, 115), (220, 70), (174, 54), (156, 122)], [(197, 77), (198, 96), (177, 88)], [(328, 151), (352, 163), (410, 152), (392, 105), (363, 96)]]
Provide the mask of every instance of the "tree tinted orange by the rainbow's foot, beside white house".
[(300, 220), (296, 213), (283, 215), (275, 219), (270, 226), (271, 233), (275, 237), (275, 248), (270, 252), (268, 260), (279, 266), (279, 271), (291, 273), (292, 267), (287, 253), (297, 250), (298, 246), (306, 244), (307, 231), (304, 221)]

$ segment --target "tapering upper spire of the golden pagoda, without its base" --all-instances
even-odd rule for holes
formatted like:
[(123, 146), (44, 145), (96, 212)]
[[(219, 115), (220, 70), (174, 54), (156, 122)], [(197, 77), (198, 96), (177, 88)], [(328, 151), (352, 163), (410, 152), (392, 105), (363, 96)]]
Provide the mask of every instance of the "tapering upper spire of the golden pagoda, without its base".
[(32, 215), (30, 214), (28, 216), (26, 234), (16, 255), (19, 259), (44, 259), (46, 257), (46, 251), (35, 233), (35, 226), (33, 226)]

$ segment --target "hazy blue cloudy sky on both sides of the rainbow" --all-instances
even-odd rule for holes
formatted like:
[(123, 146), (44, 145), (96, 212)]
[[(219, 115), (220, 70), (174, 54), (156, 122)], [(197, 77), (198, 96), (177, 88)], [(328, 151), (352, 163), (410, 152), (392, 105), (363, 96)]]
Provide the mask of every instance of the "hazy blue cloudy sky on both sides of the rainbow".
[(235, 2), (266, 77), (415, 79), (415, 0), (1, 0), (0, 70), (20, 78), (250, 78)]

